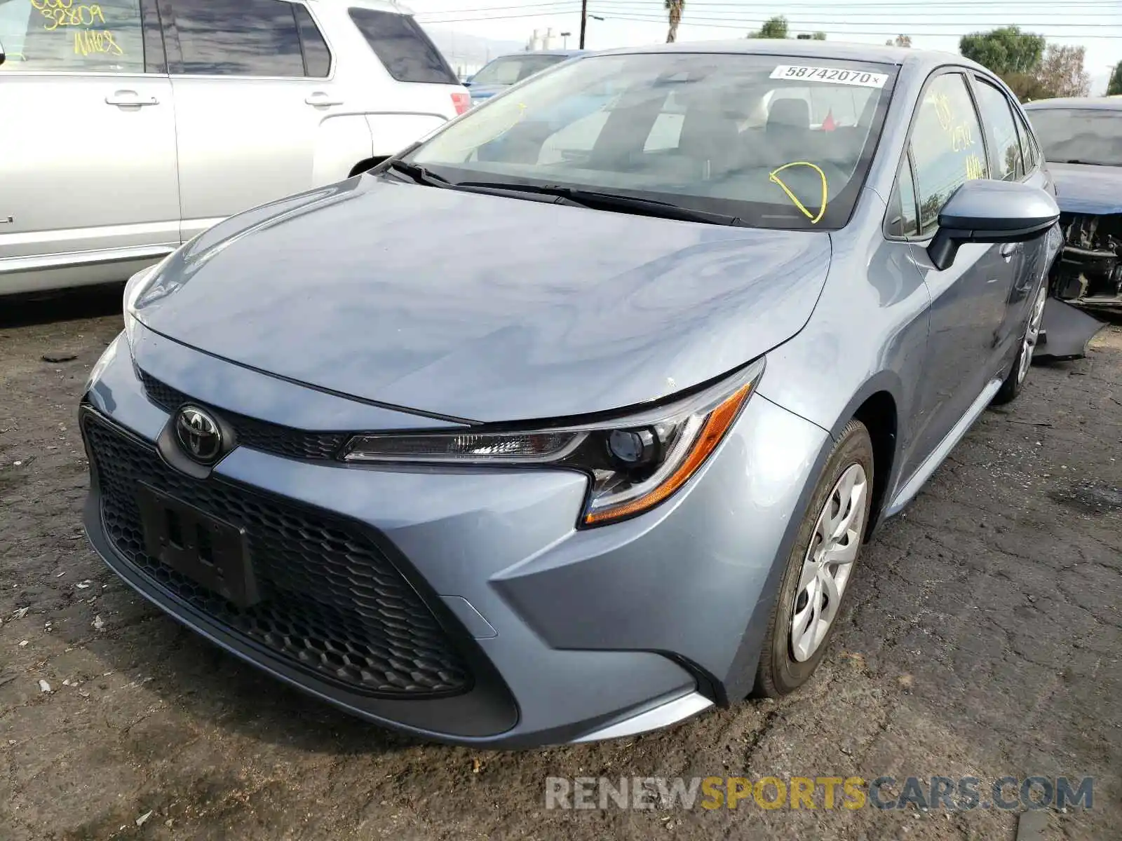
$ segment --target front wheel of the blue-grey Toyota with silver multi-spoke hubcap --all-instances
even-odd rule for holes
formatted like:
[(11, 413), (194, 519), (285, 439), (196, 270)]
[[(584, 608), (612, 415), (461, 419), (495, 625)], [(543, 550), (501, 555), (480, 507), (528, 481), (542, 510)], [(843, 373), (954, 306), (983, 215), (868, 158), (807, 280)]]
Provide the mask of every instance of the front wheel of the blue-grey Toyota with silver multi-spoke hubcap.
[[(849, 506), (840, 502), (844, 481), (856, 478), (847, 495)], [(859, 496), (855, 496), (861, 484)], [(853, 581), (853, 571), (861, 557), (865, 525), (873, 499), (873, 442), (859, 420), (850, 420), (834, 445), (818, 479), (791, 554), (787, 560), (779, 594), (772, 607), (767, 636), (760, 653), (753, 694), (757, 697), (780, 697), (804, 684), (821, 662), (837, 628), (837, 618)], [(849, 511), (850, 516), (846, 517)], [(833, 521), (845, 526), (845, 540), (824, 551), (822, 530)], [(820, 528), (824, 527), (824, 528)], [(830, 564), (826, 557), (847, 557)], [(809, 582), (807, 575), (815, 573)], [(804, 571), (807, 575), (804, 575)], [(822, 572), (830, 575), (837, 594), (829, 598), (829, 585)], [(844, 572), (844, 579), (838, 573)], [(801, 584), (801, 586), (800, 586)], [(826, 600), (819, 593), (827, 594)], [(826, 620), (825, 627), (822, 620)]]

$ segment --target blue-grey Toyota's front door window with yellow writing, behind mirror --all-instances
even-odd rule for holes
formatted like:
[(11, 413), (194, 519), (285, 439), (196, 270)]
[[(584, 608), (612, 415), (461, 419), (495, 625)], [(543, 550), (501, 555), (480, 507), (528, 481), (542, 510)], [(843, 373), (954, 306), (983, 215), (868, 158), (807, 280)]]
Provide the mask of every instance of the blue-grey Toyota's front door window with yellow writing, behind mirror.
[(971, 178), (990, 177), (982, 128), (966, 80), (944, 73), (928, 85), (911, 136), (920, 233), (932, 231), (951, 193)]

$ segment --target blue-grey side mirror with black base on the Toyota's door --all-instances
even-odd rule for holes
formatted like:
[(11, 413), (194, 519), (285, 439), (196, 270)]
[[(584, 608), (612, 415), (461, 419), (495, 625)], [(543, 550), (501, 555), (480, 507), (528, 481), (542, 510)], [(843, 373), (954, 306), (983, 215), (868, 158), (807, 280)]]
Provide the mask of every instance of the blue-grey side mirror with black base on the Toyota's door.
[(928, 246), (940, 271), (955, 261), (964, 242), (1023, 242), (1059, 219), (1056, 200), (1039, 187), (1015, 182), (968, 181), (939, 213), (939, 230)]

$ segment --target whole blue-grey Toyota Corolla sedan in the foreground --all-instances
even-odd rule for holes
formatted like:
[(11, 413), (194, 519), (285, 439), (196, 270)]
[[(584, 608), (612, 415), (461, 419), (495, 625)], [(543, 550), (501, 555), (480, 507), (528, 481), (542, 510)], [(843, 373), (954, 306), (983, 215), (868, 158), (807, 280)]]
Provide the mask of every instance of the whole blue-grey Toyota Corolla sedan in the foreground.
[(130, 280), (81, 407), (90, 538), (236, 656), (426, 738), (790, 693), (876, 524), (1026, 381), (1060, 239), (1032, 142), (960, 56), (545, 71)]

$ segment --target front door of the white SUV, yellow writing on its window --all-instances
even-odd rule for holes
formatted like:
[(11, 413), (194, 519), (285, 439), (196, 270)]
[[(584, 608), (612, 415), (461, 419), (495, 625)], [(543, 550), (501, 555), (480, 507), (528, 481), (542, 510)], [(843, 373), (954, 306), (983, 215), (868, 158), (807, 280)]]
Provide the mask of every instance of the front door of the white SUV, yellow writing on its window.
[(178, 247), (154, 2), (0, 0), (0, 294), (123, 280)]

